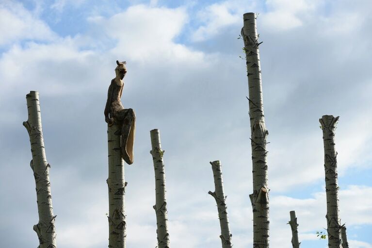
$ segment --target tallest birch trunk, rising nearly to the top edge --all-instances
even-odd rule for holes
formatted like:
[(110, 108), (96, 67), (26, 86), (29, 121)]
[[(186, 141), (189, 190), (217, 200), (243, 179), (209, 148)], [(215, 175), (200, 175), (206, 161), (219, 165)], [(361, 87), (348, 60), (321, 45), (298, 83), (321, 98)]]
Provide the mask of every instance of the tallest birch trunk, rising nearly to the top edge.
[(263, 115), (261, 68), (256, 14), (243, 15), (242, 37), (249, 88), (249, 116), (253, 164), (253, 194), (249, 195), (253, 208), (253, 247), (269, 247), (269, 189), (267, 186), (266, 137)]

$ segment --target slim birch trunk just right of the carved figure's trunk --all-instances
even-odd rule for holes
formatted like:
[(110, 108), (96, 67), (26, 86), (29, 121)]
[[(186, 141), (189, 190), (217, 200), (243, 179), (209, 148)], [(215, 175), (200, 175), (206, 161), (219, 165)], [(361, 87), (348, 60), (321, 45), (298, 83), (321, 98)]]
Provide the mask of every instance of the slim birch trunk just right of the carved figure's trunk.
[(154, 162), (155, 171), (155, 205), (153, 208), (156, 213), (156, 225), (157, 225), (157, 239), (158, 248), (169, 248), (169, 233), (168, 233), (168, 218), (167, 218), (167, 202), (166, 202), (166, 190), (165, 190), (165, 171), (162, 146), (160, 143), (160, 132), (159, 129), (153, 129), (150, 131), (151, 136), (151, 147), (150, 151), (152, 160)]

